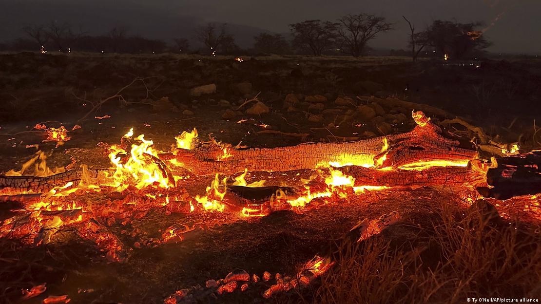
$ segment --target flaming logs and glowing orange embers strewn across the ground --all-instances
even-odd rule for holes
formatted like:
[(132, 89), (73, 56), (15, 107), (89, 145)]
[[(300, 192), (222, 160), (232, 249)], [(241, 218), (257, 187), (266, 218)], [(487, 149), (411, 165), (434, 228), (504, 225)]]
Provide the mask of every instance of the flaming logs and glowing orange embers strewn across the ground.
[[(134, 219), (152, 212), (210, 217), (225, 214), (230, 217), (227, 221), (233, 221), (263, 217), (279, 210), (305, 213), (325, 205), (338, 205), (354, 196), (424, 186), (456, 187), (463, 191), (464, 201), (473, 203), (481, 197), (477, 189), (495, 191), (492, 186), (512, 181), (514, 174), (538, 172), (536, 152), (489, 163), (480, 160), (472, 147), (465, 147), (452, 134), (444, 133), (421, 111), (413, 112), (412, 117), (417, 126), (403, 134), (279, 148), (232, 147), (215, 140), (202, 142), (194, 128), (176, 136), (170, 151), (161, 151), (153, 141), (144, 135), (135, 136), (130, 129), (120, 143), (106, 145), (111, 166), (104, 169), (90, 170), (84, 165), (79, 170), (51, 169), (44, 152), (38, 151), (20, 170), (0, 176), (0, 202), (18, 206), (2, 222), (0, 236), (39, 246), (61, 239), (64, 233), (75, 232), (95, 243), (105, 260), (123, 262), (133, 248), (182, 243), (217, 224), (194, 218), (175, 223), (153, 238), (135, 231), (118, 235), (111, 229), (115, 224), (129, 226)], [(69, 140), (63, 126), (54, 129), (39, 125), (36, 129), (52, 132), (51, 138), (59, 141)], [(504, 148), (509, 155), (518, 150), (514, 146)], [(530, 158), (521, 162), (520, 157)], [(500, 164), (505, 164), (506, 169), (500, 170)], [(32, 167), (34, 172), (29, 174)], [(259, 176), (267, 177), (255, 180), (250, 174), (256, 171)], [(295, 178), (273, 178), (275, 171)], [(296, 178), (301, 173), (307, 178)], [(191, 175), (208, 181), (204, 193), (188, 190)], [(506, 181), (496, 181), (493, 176), (502, 176)], [(520, 194), (533, 194), (536, 182)], [(539, 220), (540, 201), (540, 197), (530, 195), (497, 201), (494, 205), (504, 215), (521, 214)], [(377, 220), (361, 221), (344, 240), (364, 241), (399, 218), (393, 212)], [(268, 272), (262, 273), (260, 279), (256, 274), (237, 269), (223, 280), (207, 281), (206, 286), (219, 295), (264, 286), (263, 298), (270, 298), (276, 293), (308, 286), (333, 265), (331, 252), (315, 256), (295, 276), (276, 274), (272, 281)], [(37, 286), (25, 290), (24, 296), (37, 296), (44, 291), (45, 285)], [(177, 290), (165, 302), (177, 303), (193, 292)], [(67, 303), (70, 299), (67, 295), (49, 296), (45, 301)]]

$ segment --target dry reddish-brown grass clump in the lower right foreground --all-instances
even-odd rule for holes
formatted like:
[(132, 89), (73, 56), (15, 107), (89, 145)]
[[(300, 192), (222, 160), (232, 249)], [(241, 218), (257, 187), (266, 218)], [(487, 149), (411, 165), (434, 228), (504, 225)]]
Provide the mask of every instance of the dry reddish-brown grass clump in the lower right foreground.
[(304, 302), (464, 303), (480, 297), (538, 298), (540, 282), (539, 227), (491, 220), (478, 211), (460, 214), (445, 207), (430, 224), (399, 225), (364, 244), (342, 248), (338, 266)]

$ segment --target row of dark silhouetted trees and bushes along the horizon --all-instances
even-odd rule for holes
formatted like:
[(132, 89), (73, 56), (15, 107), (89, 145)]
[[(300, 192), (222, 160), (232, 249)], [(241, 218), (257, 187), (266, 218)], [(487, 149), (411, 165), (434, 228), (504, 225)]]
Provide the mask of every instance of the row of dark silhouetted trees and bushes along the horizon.
[[(422, 56), (444, 56), (461, 59), (489, 47), (483, 31), (477, 30), (479, 22), (458, 23), (436, 20), (424, 30), (417, 30), (406, 17), (410, 31), (410, 51), (393, 51), (397, 55), (410, 55), (413, 61)], [(27, 38), (17, 39), (10, 44), (0, 44), (0, 50), (36, 50), (70, 52), (118, 52), (118, 53), (199, 53), (206, 55), (224, 54), (305, 54), (363, 56), (370, 49), (369, 43), (378, 35), (394, 30), (394, 25), (385, 17), (370, 14), (346, 15), (335, 22), (319, 19), (290, 24), (292, 39), (288, 41), (280, 34), (261, 33), (254, 37), (252, 49), (241, 50), (235, 38), (227, 30), (227, 24), (208, 23), (195, 30), (194, 39), (203, 48), (190, 49), (189, 39), (176, 38), (166, 42), (129, 35), (125, 27), (115, 27), (104, 35), (90, 36), (81, 28), (69, 23), (51, 21), (43, 25), (28, 25), (23, 28)]]

